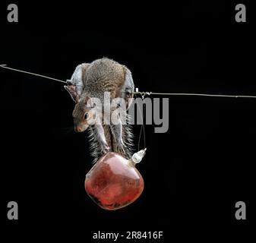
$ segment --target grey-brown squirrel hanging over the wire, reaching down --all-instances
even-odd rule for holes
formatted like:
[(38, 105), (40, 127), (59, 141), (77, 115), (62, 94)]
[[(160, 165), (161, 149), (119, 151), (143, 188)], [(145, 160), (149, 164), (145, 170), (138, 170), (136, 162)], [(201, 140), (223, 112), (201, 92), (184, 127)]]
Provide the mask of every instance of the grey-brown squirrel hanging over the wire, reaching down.
[[(67, 83), (65, 90), (75, 102), (74, 130), (77, 132), (89, 131), (91, 154), (94, 157), (94, 162), (109, 151), (130, 158), (133, 134), (131, 125), (128, 125), (129, 118), (126, 110), (131, 105), (132, 92), (134, 91), (131, 71), (109, 58), (100, 58), (91, 63), (78, 65), (71, 80), (68, 80)], [(115, 124), (112, 122), (104, 124), (103, 119), (98, 120), (94, 125), (89, 124), (88, 120), (95, 115), (91, 111), (96, 106), (90, 98), (98, 98), (103, 104), (105, 92), (109, 92), (110, 102), (115, 98), (125, 100), (125, 125), (121, 119)], [(112, 109), (110, 109), (111, 112)]]

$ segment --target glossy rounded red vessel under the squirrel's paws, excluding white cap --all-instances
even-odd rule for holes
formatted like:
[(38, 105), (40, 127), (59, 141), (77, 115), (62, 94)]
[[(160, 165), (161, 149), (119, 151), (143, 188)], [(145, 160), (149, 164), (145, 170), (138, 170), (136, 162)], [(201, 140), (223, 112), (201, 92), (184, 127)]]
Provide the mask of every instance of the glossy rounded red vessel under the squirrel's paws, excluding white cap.
[(144, 189), (144, 180), (134, 163), (118, 153), (106, 153), (85, 178), (85, 191), (106, 210), (117, 210), (134, 202)]

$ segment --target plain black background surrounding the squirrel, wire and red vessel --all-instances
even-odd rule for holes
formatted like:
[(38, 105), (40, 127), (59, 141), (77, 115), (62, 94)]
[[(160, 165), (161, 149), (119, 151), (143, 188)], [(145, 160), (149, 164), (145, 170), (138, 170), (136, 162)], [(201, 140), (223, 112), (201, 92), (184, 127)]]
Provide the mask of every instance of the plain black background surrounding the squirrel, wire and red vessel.
[[(81, 62), (107, 56), (131, 69), (141, 91), (256, 95), (250, 2), (242, 1), (247, 23), (236, 23), (240, 2), (16, 1), (12, 24), (9, 3), (1, 3), (0, 64), (66, 80)], [(255, 222), (256, 99), (169, 97), (169, 131), (146, 126), (148, 153), (137, 166), (144, 193), (109, 212), (84, 191), (92, 159), (85, 134), (72, 131), (74, 103), (63, 85), (5, 69), (0, 80), (0, 210), (9, 239), (88, 242), (98, 230), (159, 230), (161, 242), (245, 241)], [(17, 221), (6, 217), (11, 200)], [(235, 219), (239, 200), (246, 220)]]

